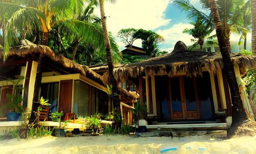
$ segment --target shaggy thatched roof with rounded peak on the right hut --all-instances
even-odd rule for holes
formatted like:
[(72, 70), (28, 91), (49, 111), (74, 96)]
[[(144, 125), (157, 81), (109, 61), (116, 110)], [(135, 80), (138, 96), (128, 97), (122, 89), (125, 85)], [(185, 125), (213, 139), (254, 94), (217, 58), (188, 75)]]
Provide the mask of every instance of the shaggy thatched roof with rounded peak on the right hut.
[[(239, 65), (241, 74), (244, 74), (247, 68), (256, 68), (255, 56), (236, 53), (230, 54), (230, 57), (233, 64)], [(202, 68), (213, 72), (222, 69), (221, 53), (193, 52), (188, 50), (183, 42), (178, 41), (172, 53), (115, 68), (114, 74), (116, 80), (121, 82), (144, 74), (173, 76), (178, 72), (185, 72), (187, 76), (197, 76), (202, 75)], [(106, 82), (107, 79), (108, 72), (103, 75), (103, 81)]]

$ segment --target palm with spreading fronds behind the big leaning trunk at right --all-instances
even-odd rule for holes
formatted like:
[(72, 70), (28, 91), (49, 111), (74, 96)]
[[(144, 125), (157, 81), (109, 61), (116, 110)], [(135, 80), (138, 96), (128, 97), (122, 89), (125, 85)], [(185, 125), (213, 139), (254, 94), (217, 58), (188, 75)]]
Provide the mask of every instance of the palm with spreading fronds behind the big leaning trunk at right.
[[(209, 12), (210, 5), (207, 0), (200, 0), (202, 4), (202, 8)], [(239, 34), (240, 32), (247, 31), (243, 27), (241, 27), (241, 8), (243, 7), (244, 0), (217, 0), (217, 5), (219, 6), (218, 12), (221, 19), (221, 25), (224, 33), (225, 42), (227, 44), (229, 52), (231, 51), (230, 46), (230, 32), (234, 32)], [(202, 17), (204, 22), (211, 22), (212, 26), (214, 26), (214, 22), (212, 21), (212, 15), (203, 13), (196, 9), (193, 5), (189, 3), (187, 0), (175, 0), (174, 5), (177, 6), (182, 11), (186, 12), (187, 17), (191, 20), (197, 20), (198, 17)]]

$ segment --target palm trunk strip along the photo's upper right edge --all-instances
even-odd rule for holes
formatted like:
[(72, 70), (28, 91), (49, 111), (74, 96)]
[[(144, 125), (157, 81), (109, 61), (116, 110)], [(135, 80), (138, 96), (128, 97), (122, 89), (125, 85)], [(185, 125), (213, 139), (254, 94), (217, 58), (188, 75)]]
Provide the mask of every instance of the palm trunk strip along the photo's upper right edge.
[[(252, 50), (253, 55), (255, 55), (256, 54), (256, 0), (251, 0), (251, 21), (252, 21), (251, 50)], [(255, 73), (255, 75), (256, 75), (256, 73)]]

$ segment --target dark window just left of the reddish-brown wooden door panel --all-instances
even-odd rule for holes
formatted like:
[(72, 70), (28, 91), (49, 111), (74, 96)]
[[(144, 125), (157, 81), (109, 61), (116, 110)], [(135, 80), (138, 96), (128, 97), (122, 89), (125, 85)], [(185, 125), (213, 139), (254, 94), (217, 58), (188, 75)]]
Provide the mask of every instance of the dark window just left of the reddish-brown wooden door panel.
[(59, 83), (47, 83), (41, 85), (41, 96), (48, 99), (51, 104), (49, 113), (58, 111)]

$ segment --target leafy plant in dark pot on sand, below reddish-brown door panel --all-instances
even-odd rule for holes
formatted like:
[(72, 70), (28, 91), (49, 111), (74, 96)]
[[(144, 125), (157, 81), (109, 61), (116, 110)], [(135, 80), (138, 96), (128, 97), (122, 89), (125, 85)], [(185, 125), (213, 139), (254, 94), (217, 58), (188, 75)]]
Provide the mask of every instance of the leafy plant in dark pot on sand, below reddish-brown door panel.
[(61, 123), (61, 116), (63, 115), (63, 112), (53, 112), (51, 113), (50, 118), (54, 122), (59, 122), (59, 126), (57, 129), (55, 129), (55, 136), (56, 137), (65, 137), (66, 136), (66, 127), (68, 125), (68, 121), (64, 121)]

